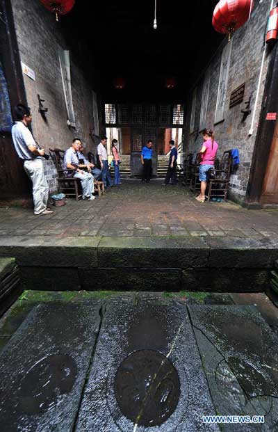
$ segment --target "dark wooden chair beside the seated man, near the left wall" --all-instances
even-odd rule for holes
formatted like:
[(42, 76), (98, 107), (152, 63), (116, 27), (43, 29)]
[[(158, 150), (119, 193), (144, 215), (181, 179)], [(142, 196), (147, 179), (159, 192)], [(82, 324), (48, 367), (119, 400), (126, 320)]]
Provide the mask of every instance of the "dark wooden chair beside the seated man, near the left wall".
[(81, 182), (79, 179), (67, 176), (66, 172), (70, 170), (66, 171), (64, 167), (65, 151), (55, 148), (49, 149), (49, 152), (56, 166), (60, 192), (65, 193), (66, 196), (75, 196), (76, 201), (78, 201), (82, 196)]

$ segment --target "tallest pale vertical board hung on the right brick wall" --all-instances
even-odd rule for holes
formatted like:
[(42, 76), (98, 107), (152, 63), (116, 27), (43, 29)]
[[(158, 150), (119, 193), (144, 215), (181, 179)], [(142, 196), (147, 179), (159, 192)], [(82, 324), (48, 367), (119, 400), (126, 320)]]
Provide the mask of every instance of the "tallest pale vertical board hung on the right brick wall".
[(225, 106), (226, 95), (227, 95), (232, 43), (233, 40), (231, 40), (231, 42), (228, 42), (222, 51), (220, 75), (219, 75), (219, 83), (218, 83), (218, 97), (216, 101), (215, 118), (214, 118), (215, 123), (224, 120), (224, 106)]

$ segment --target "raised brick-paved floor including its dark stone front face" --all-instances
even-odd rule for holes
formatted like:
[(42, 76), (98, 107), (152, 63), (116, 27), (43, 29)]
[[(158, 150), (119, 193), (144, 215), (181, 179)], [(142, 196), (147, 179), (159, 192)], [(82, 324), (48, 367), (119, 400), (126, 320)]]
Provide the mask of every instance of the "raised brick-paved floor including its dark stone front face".
[(59, 289), (58, 275), (60, 289), (90, 289), (94, 279), (93, 289), (103, 289), (112, 273), (115, 288), (124, 289), (115, 276), (121, 269), (126, 286), (138, 290), (149, 278), (149, 289), (161, 280), (162, 289), (261, 291), (278, 259), (277, 215), (202, 204), (183, 186), (124, 182), (93, 202), (69, 199), (45, 217), (0, 209), (0, 257), (15, 257), (25, 287), (34, 289), (42, 278)]

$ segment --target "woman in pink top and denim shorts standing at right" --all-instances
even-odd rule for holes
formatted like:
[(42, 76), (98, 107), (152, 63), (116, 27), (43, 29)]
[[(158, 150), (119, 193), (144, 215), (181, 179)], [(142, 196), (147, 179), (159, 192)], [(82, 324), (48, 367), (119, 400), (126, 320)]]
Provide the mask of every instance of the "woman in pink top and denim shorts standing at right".
[(204, 202), (206, 193), (206, 182), (208, 181), (208, 170), (214, 168), (214, 161), (218, 152), (218, 143), (214, 140), (211, 129), (204, 129), (204, 143), (200, 150), (201, 162), (199, 164), (199, 181), (201, 182), (201, 193), (196, 197), (197, 201)]

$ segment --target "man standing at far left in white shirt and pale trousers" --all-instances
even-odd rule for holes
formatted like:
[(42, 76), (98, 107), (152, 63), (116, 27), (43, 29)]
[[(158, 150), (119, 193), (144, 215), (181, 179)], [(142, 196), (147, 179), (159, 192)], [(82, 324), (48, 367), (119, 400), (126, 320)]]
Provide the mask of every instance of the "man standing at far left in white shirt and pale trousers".
[(34, 213), (52, 214), (53, 211), (47, 208), (49, 186), (44, 177), (42, 163), (44, 149), (39, 148), (28, 129), (28, 125), (32, 122), (30, 109), (23, 104), (17, 104), (15, 115), (17, 122), (12, 127), (13, 144), (20, 159), (24, 160), (24, 170), (33, 183)]

